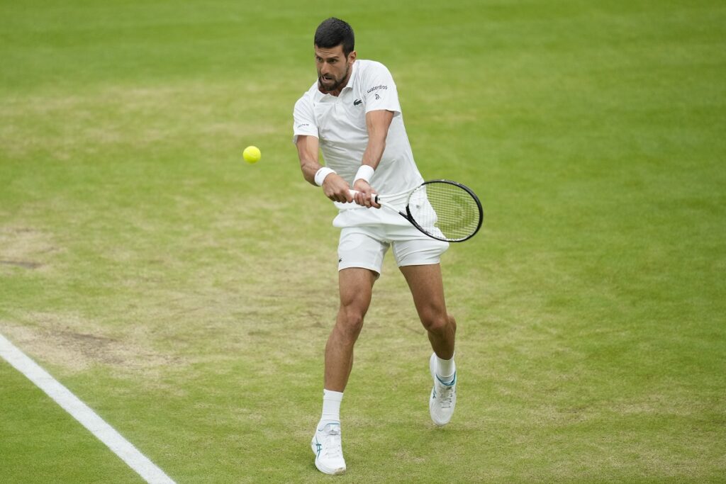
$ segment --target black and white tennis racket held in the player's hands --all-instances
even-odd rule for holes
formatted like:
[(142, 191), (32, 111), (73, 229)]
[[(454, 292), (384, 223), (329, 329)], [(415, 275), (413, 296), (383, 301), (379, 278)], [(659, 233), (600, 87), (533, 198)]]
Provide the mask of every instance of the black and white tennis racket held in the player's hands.
[[(355, 193), (351, 190), (351, 194)], [(406, 194), (404, 210), (388, 201), (402, 200)], [(375, 194), (374, 201), (381, 207), (396, 210), (428, 237), (444, 242), (464, 242), (474, 237), (484, 220), (476, 194), (468, 186), (451, 180), (425, 181), (403, 194)]]

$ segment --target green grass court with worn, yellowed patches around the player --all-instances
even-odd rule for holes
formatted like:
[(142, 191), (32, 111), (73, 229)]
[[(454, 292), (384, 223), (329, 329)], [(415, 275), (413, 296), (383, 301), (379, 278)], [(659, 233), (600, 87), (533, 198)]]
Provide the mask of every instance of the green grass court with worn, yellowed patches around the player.
[[(723, 482), (726, 7), (716, 1), (0, 5), (0, 333), (179, 483), (319, 482), (334, 210), (292, 107), (336, 15), (390, 67), (444, 258), (459, 404), (392, 261), (340, 482)], [(262, 150), (257, 165), (242, 149)], [(0, 480), (134, 473), (0, 362)]]

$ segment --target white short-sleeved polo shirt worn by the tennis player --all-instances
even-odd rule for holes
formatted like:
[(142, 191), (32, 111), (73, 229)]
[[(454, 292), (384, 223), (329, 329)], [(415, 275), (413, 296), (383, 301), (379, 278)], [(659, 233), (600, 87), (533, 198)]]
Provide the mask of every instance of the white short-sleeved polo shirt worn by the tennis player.
[[(300, 135), (317, 137), (325, 165), (333, 168), (352, 186), (368, 144), (366, 113), (392, 111), (386, 149), (370, 184), (380, 194), (397, 194), (415, 188), (423, 183), (423, 178), (413, 159), (391, 73), (385, 65), (372, 60), (356, 60), (351, 69), (351, 78), (339, 96), (320, 92), (316, 80), (298, 99), (293, 112), (293, 142)], [(387, 209), (335, 205), (341, 210), (333, 221), (335, 226), (408, 223)]]

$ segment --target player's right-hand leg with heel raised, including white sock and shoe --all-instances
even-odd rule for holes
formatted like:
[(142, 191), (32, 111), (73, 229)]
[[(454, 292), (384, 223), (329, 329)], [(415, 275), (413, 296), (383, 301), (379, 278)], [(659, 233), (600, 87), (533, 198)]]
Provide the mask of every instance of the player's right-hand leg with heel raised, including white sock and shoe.
[(429, 360), (433, 378), (428, 404), (431, 419), (437, 425), (445, 425), (451, 420), (456, 406), (456, 320), (446, 311), (441, 266), (436, 263), (401, 266), (400, 269), (409, 285), (416, 311), (428, 332), (428, 340), (433, 348)]

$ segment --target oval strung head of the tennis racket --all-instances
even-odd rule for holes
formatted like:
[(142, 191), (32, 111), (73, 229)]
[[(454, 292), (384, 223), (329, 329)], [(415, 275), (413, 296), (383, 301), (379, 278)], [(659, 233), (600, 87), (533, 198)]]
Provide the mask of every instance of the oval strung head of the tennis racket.
[(467, 190), (449, 183), (420, 186), (409, 198), (409, 211), (429, 234), (449, 241), (468, 239), (481, 223), (481, 205)]

